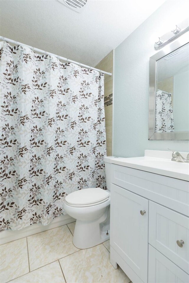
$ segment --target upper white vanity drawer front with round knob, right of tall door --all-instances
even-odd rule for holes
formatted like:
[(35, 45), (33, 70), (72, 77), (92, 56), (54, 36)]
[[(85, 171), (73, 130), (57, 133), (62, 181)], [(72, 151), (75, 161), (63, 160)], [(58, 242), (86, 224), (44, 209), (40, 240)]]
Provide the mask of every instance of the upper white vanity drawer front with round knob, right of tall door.
[(149, 243), (189, 273), (189, 218), (149, 201)]

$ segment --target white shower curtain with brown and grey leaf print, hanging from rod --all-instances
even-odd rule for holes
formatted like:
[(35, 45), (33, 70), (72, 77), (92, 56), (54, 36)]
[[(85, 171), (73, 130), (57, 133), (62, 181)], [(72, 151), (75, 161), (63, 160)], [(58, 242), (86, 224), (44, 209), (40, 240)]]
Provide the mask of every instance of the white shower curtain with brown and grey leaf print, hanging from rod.
[(104, 74), (0, 42), (1, 230), (47, 225), (105, 189)]

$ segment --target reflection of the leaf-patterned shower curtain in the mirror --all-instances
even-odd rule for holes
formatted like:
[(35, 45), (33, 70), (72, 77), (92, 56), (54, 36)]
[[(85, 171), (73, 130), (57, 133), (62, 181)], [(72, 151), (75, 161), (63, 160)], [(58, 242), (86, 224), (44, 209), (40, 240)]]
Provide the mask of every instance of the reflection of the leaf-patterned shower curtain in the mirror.
[(155, 131), (174, 132), (173, 123), (173, 108), (171, 101), (171, 93), (157, 90), (156, 93), (156, 117), (155, 117)]

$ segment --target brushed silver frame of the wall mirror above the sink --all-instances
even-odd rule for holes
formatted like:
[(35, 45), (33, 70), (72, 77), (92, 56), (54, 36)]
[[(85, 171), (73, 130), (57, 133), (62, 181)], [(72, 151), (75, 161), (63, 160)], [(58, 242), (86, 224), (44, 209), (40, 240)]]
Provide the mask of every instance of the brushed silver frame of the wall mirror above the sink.
[(189, 42), (189, 31), (150, 57), (149, 74), (149, 140), (189, 140), (189, 131), (155, 132), (156, 61)]

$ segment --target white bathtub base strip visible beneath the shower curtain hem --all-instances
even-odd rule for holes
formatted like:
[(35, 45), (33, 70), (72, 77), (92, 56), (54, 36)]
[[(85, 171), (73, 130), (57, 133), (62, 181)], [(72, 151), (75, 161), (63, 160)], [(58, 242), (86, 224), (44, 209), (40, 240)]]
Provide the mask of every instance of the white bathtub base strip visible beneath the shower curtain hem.
[(33, 234), (47, 231), (62, 225), (66, 225), (74, 221), (76, 221), (74, 218), (70, 217), (68, 214), (65, 214), (54, 218), (50, 222), (50, 224), (46, 226), (43, 226), (41, 224), (33, 224), (17, 231), (5, 230), (0, 232), (0, 244), (8, 243), (14, 240), (18, 240), (20, 238), (31, 236)]

